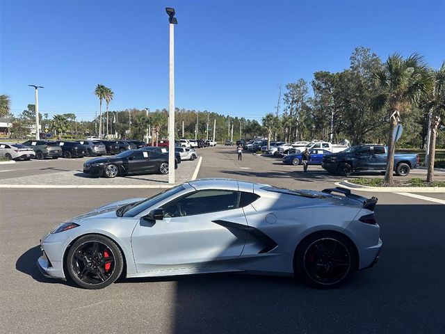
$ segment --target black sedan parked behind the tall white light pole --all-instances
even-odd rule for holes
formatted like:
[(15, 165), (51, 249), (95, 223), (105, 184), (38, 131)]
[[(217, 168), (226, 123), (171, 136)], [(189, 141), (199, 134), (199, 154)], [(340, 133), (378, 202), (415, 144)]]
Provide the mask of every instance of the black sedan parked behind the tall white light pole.
[(83, 173), (97, 177), (149, 173), (165, 175), (168, 174), (168, 156), (158, 152), (127, 150), (114, 157), (101, 157), (86, 161), (83, 164)]

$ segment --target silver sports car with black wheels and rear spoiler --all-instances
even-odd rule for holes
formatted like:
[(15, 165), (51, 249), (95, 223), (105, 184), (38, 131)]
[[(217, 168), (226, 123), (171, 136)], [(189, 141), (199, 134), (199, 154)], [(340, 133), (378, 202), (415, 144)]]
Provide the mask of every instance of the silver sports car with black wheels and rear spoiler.
[(56, 226), (40, 242), (38, 267), (88, 289), (120, 276), (227, 271), (296, 275), (314, 287), (337, 287), (378, 260), (376, 202), (341, 188), (195, 180)]

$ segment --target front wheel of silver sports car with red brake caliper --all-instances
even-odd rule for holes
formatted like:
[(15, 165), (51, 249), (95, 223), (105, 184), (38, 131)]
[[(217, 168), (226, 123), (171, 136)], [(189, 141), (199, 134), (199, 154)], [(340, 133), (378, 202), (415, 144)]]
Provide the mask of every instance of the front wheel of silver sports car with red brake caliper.
[(122, 274), (124, 258), (119, 247), (102, 235), (89, 234), (72, 244), (66, 269), (70, 278), (84, 289), (102, 289)]

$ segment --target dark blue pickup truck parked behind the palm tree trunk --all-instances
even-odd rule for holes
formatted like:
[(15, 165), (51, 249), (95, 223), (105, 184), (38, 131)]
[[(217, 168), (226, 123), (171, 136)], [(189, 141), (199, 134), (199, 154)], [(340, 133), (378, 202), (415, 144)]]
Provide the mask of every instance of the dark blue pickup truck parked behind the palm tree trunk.
[[(394, 171), (398, 176), (410, 174), (419, 164), (419, 154), (394, 154)], [(348, 176), (358, 170), (386, 170), (387, 147), (384, 145), (357, 145), (343, 152), (323, 156), (321, 166), (332, 174)]]

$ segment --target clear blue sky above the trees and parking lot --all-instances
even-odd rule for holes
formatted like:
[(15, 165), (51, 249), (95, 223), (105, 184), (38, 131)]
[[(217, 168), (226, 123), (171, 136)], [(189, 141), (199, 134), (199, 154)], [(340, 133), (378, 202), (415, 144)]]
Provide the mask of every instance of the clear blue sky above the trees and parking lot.
[(176, 106), (261, 120), (277, 85), (341, 71), (355, 47), (445, 59), (445, 1), (0, 0), (0, 93), (13, 113), (168, 107), (168, 17), (175, 7)]

